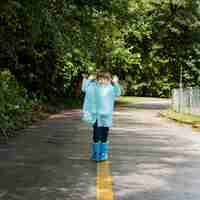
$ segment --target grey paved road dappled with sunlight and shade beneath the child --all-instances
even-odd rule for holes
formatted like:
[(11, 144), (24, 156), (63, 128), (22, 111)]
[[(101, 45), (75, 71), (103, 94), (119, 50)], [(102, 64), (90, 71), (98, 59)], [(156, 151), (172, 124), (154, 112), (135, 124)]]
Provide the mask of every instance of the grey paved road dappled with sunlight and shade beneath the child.
[(167, 104), (117, 108), (106, 166), (89, 160), (91, 130), (79, 110), (22, 131), (0, 145), (0, 200), (199, 200), (200, 134), (160, 118)]

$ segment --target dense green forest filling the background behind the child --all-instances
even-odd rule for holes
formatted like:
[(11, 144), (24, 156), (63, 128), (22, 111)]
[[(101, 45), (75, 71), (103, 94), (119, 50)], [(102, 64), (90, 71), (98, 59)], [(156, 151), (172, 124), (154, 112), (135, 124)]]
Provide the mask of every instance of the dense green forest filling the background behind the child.
[(127, 96), (170, 97), (180, 77), (200, 86), (200, 1), (0, 2), (0, 136), (79, 99), (81, 74), (98, 69)]

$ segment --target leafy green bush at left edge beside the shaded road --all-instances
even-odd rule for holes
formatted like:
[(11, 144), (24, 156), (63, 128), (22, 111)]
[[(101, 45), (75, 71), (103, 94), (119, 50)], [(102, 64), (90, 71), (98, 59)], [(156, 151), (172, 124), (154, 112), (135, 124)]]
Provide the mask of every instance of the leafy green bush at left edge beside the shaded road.
[(8, 70), (0, 71), (0, 138), (31, 122), (34, 101)]

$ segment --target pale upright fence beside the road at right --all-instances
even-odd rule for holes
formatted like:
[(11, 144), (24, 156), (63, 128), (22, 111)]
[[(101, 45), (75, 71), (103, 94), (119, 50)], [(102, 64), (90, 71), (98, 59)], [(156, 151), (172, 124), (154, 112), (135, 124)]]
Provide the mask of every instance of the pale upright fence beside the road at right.
[(200, 88), (173, 89), (172, 109), (176, 112), (200, 116)]

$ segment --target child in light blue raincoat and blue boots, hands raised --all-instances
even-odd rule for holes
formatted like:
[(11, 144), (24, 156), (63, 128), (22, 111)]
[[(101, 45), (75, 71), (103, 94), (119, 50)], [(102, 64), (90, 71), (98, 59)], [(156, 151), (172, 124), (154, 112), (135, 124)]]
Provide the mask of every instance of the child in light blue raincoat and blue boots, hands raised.
[(101, 72), (97, 80), (83, 80), (82, 90), (85, 92), (83, 119), (93, 125), (93, 160), (108, 159), (108, 132), (112, 126), (114, 100), (121, 94), (118, 78)]

